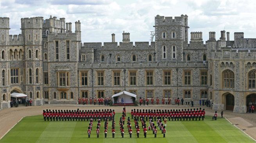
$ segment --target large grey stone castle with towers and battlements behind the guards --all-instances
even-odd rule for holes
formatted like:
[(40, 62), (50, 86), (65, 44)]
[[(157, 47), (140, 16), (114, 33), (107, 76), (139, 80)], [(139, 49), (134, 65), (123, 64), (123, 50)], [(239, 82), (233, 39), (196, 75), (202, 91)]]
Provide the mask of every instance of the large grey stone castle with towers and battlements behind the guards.
[[(138, 98), (183, 98), (196, 105), (214, 101), (214, 110), (244, 113), (256, 101), (256, 39), (221, 31), (191, 32), (188, 16), (155, 17), (155, 42), (82, 43), (81, 23), (65, 18), (21, 18), (21, 34), (9, 35), (9, 18), (0, 17), (0, 109), (10, 94), (27, 94), (33, 105), (77, 104), (78, 97), (111, 97), (128, 91)], [(147, 36), (147, 35), (145, 35)], [(188, 44), (189, 43), (189, 44)], [(137, 99), (138, 99), (137, 98)], [(156, 101), (156, 100), (155, 100)]]

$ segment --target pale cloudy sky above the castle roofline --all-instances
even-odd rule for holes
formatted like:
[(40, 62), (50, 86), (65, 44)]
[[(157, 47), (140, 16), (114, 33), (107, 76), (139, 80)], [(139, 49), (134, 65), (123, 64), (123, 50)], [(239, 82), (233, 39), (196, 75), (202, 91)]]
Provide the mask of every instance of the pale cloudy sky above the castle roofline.
[[(122, 42), (122, 32), (129, 32), (132, 42), (149, 41), (154, 31), (154, 17), (188, 15), (189, 33), (202, 31), (244, 32), (256, 38), (256, 0), (0, 0), (0, 17), (10, 17), (10, 35), (19, 34), (22, 17), (50, 15), (65, 17), (66, 22), (81, 21), (82, 42)], [(190, 34), (189, 34), (190, 39)]]

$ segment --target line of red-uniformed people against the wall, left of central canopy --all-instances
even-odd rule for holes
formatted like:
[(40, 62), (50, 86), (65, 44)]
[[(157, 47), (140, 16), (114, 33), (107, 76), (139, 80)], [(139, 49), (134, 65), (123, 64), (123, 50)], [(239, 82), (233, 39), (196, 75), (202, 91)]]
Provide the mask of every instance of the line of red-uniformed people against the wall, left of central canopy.
[(83, 104), (83, 105), (87, 105), (87, 104), (89, 104), (90, 103), (90, 105), (96, 105), (96, 103), (97, 103), (97, 101), (98, 101), (98, 105), (103, 105), (103, 103), (104, 103), (104, 105), (105, 106), (109, 106), (110, 105), (110, 101), (111, 101), (111, 99), (109, 98), (109, 97), (107, 97), (107, 98), (90, 98), (89, 99), (89, 102), (88, 102), (88, 98), (78, 98), (78, 104)]

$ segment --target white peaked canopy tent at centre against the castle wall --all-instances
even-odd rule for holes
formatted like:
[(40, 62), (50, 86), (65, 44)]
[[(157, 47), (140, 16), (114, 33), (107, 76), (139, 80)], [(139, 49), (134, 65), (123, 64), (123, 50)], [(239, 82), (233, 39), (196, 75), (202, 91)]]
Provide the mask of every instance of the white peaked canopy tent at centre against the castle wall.
[(127, 91), (122, 91), (122, 92), (119, 92), (119, 93), (114, 94), (114, 95), (112, 96), (112, 101), (114, 101), (114, 97), (117, 97), (117, 96), (118, 96), (117, 103), (122, 103), (122, 98), (123, 98), (123, 100), (124, 100), (123, 103), (133, 103), (131, 97), (134, 97), (134, 98), (135, 98), (135, 101), (136, 101), (136, 99), (137, 99), (137, 95), (132, 94), (132, 93), (127, 92)]

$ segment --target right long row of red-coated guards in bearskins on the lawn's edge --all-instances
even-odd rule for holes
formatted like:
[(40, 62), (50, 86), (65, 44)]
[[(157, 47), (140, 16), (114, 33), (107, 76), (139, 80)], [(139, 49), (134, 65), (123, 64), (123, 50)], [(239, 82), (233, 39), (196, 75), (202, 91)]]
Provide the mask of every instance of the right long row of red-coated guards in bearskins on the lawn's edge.
[(179, 110), (131, 110), (131, 116), (134, 120), (204, 120), (205, 111), (204, 109), (179, 109)]

